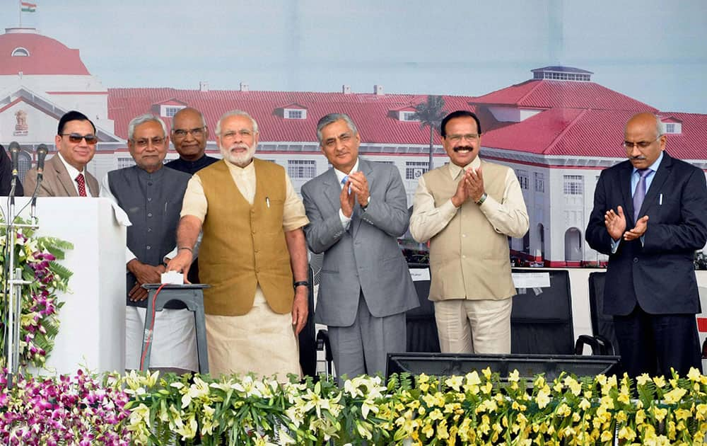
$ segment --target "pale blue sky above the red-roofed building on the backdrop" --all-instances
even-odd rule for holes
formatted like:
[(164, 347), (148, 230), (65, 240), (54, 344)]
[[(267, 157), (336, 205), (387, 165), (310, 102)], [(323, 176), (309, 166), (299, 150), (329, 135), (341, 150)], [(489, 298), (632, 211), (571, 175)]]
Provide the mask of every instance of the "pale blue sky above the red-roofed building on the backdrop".
[[(454, 94), (566, 65), (662, 111), (707, 113), (707, 1), (28, 0), (22, 24), (107, 88)], [(16, 26), (20, 1), (0, 1)]]

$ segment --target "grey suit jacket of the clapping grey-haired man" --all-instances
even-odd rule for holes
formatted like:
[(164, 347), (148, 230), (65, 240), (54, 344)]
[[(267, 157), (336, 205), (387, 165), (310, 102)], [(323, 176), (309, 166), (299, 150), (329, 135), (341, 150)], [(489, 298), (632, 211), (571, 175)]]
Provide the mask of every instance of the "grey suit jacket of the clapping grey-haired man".
[(391, 316), (419, 306), (414, 284), (397, 237), (407, 231), (407, 195), (400, 174), (390, 164), (358, 159), (371, 196), (365, 211), (356, 203), (349, 230), (339, 219), (341, 186), (334, 169), (302, 186), (310, 223), (309, 248), (324, 253), (315, 321), (351, 326), (363, 292), (370, 314)]

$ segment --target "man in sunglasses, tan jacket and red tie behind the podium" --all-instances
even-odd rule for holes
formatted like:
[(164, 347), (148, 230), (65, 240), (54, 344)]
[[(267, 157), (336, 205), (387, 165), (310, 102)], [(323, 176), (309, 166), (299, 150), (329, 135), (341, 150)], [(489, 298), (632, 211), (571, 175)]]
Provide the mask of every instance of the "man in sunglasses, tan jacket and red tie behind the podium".
[[(86, 171), (93, 159), (95, 125), (86, 115), (71, 110), (59, 119), (57, 156), (45, 164), (44, 175), (37, 195), (40, 197), (98, 197), (98, 181)], [(37, 169), (31, 168), (25, 176), (25, 197), (31, 197), (37, 185)]]

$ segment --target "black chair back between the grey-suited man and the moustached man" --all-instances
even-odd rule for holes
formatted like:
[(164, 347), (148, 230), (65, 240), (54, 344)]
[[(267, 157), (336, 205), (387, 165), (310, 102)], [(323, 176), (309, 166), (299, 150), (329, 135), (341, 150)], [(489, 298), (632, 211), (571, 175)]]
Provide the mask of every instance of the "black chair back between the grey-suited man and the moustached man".
[(430, 267), (421, 263), (408, 263), (413, 275), (420, 306), (405, 313), (407, 323), (407, 351), (438, 353), (440, 338), (435, 321), (435, 306), (430, 295)]

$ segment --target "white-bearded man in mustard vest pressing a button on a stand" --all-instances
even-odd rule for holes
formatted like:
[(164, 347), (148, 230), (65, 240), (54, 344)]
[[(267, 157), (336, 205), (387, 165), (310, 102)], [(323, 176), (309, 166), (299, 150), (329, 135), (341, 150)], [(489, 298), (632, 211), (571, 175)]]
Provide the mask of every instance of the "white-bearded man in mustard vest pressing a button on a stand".
[(281, 166), (254, 158), (257, 122), (233, 110), (216, 124), (223, 160), (194, 174), (168, 270), (188, 272), (199, 247), (209, 371), (300, 375), (296, 335), (308, 314), (305, 209)]

